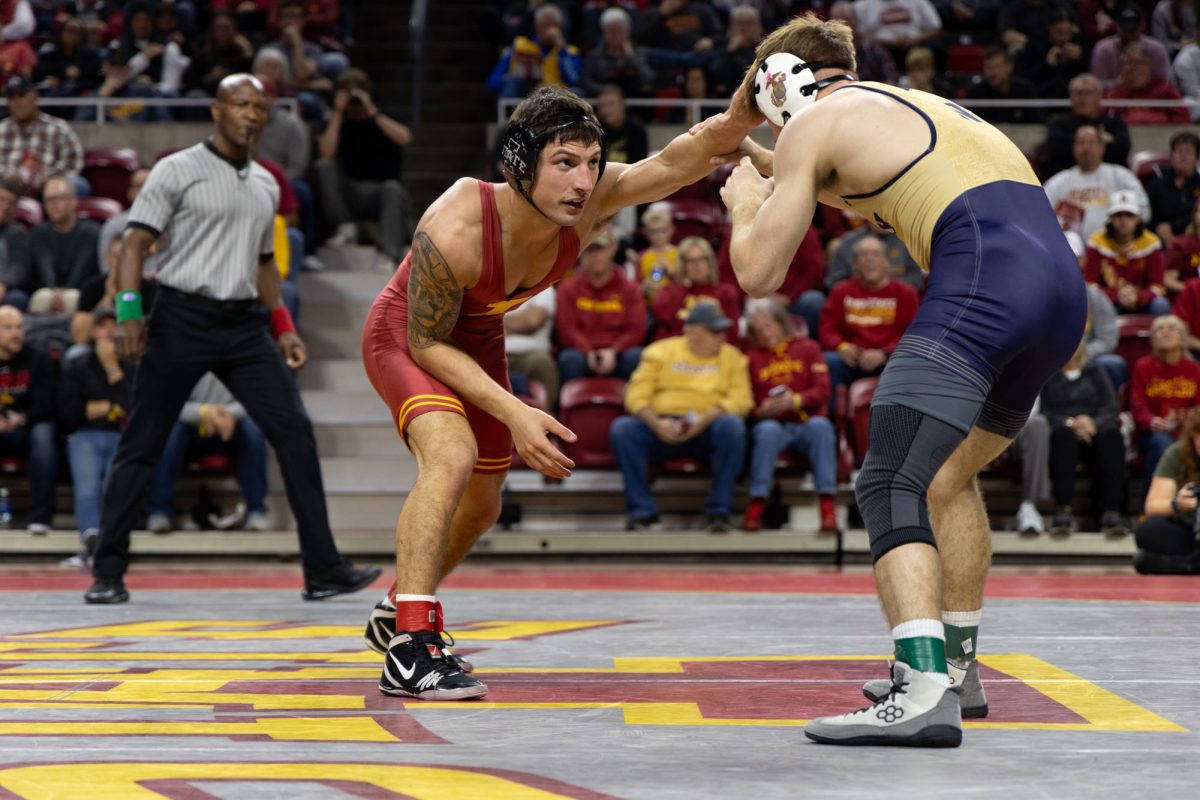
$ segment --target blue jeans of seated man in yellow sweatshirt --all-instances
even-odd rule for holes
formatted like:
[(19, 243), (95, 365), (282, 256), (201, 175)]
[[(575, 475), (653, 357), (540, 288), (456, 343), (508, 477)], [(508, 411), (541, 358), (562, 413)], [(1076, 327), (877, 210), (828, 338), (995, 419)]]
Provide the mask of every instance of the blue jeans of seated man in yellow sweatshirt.
[(620, 416), (608, 428), (608, 439), (625, 481), (625, 507), (631, 518), (644, 519), (659, 512), (647, 469), (652, 461), (668, 458), (707, 459), (713, 470), (713, 491), (704, 503), (704, 513), (733, 513), (733, 482), (746, 452), (746, 426), (740, 416), (725, 414), (698, 437), (679, 445), (660, 440), (636, 416)]

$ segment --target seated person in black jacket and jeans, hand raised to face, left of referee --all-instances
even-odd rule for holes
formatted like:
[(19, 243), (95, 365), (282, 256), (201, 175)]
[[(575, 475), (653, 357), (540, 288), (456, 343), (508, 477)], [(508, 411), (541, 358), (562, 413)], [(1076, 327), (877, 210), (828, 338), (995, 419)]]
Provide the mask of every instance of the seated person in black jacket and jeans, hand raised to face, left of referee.
[(59, 420), (67, 437), (67, 463), (74, 487), (74, 516), (80, 552), (89, 558), (100, 536), (100, 499), (116, 444), (133, 407), (134, 366), (116, 357), (116, 312), (97, 308), (91, 343), (62, 365)]

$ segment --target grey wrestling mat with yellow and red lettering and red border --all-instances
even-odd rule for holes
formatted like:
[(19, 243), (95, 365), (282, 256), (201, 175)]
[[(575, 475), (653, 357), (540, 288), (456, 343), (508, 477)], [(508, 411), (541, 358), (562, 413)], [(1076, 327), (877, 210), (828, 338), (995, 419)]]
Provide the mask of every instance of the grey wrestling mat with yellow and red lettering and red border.
[(0, 567), (0, 798), (1187, 798), (1200, 581), (1000, 569), (991, 716), (960, 748), (809, 742), (889, 642), (865, 569), (468, 564), (442, 599), (486, 702), (378, 693), (379, 591), (138, 564), (132, 601)]

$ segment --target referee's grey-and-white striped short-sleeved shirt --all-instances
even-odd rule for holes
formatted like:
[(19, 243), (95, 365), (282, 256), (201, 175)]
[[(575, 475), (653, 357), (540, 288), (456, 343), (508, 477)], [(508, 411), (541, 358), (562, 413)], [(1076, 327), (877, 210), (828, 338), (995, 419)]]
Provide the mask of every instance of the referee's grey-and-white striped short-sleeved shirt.
[(158, 236), (161, 285), (217, 300), (258, 296), (258, 264), (275, 251), (280, 187), (253, 161), (223, 158), (211, 144), (173, 154), (150, 170), (130, 225)]

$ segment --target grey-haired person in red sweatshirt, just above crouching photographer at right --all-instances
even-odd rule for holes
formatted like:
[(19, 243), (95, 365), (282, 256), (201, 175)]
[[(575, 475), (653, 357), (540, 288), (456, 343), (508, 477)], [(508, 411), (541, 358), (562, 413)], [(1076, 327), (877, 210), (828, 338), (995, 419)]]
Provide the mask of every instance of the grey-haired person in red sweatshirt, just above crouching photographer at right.
[(1129, 379), (1129, 410), (1141, 434), (1145, 461), (1142, 500), (1154, 467), (1175, 443), (1187, 413), (1198, 403), (1200, 365), (1184, 349), (1188, 329), (1174, 314), (1156, 319), (1150, 326), (1152, 351), (1138, 359)]

